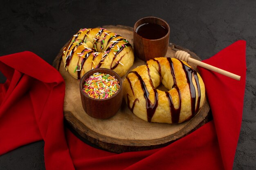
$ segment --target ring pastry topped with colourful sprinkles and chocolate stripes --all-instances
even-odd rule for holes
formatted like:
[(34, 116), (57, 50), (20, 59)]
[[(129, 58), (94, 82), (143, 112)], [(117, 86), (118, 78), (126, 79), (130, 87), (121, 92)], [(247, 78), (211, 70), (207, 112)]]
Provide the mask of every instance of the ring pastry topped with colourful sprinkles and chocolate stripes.
[(122, 77), (132, 66), (132, 46), (121, 35), (103, 28), (80, 29), (63, 49), (66, 70), (76, 79), (94, 68), (109, 68)]

